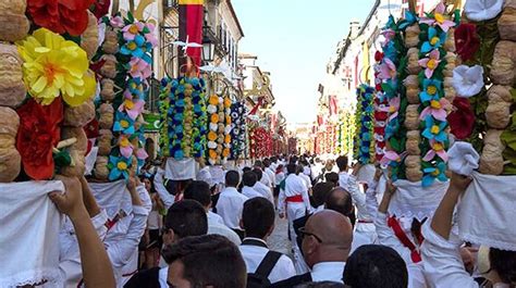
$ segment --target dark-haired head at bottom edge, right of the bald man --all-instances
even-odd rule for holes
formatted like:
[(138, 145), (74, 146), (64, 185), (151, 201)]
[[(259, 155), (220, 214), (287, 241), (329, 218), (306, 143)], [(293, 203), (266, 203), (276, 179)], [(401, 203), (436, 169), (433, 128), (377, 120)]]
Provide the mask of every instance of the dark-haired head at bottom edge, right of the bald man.
[(344, 284), (353, 288), (406, 288), (407, 264), (394, 249), (381, 245), (359, 247), (347, 259)]

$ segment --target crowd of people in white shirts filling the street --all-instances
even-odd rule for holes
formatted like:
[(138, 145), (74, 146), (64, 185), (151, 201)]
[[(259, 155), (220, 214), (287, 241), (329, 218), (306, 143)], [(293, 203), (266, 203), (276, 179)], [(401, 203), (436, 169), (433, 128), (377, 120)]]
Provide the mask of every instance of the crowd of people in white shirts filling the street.
[[(60, 236), (65, 286), (516, 285), (515, 251), (463, 242), (453, 229), (468, 177), (454, 174), (433, 217), (419, 221), (389, 214), (397, 189), (388, 175), (349, 167), (345, 156), (262, 159), (225, 171), (223, 183), (209, 171), (174, 181), (163, 163), (148, 163), (126, 181), (131, 209), (122, 204), (114, 216), (95, 184), (63, 178), (66, 192), (50, 199), (67, 215)], [(287, 221), (292, 253), (268, 245), (277, 215)]]

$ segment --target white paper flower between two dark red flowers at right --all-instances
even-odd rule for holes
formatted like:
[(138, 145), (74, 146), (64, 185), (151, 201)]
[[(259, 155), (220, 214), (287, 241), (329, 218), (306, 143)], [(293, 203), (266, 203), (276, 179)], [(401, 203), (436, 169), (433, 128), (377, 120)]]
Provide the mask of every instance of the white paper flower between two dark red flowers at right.
[(471, 97), (482, 90), (483, 67), (475, 65), (472, 67), (459, 65), (453, 70), (453, 88), (457, 91), (458, 97)]

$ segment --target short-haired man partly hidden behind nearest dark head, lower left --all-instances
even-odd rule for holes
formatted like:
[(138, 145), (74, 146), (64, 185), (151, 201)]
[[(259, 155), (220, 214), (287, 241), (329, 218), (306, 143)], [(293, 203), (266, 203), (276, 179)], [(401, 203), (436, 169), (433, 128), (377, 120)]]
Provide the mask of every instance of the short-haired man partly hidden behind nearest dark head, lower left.
[[(206, 235), (208, 217), (205, 209), (197, 201), (182, 200), (170, 206), (163, 226), (163, 247), (167, 247), (189, 236)], [(167, 264), (172, 263), (165, 254), (163, 254), (163, 259)], [(138, 272), (125, 284), (124, 288), (169, 287), (167, 284), (168, 273), (168, 266)]]

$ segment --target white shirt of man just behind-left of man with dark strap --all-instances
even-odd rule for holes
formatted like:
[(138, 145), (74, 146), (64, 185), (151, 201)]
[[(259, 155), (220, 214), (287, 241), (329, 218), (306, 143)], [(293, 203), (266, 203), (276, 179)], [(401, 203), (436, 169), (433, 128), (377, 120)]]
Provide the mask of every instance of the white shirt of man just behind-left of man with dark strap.
[(234, 187), (226, 187), (220, 192), (219, 201), (217, 202), (217, 213), (224, 221), (225, 226), (231, 229), (242, 229), (239, 222), (242, 218), (242, 210), (247, 197), (239, 193)]

